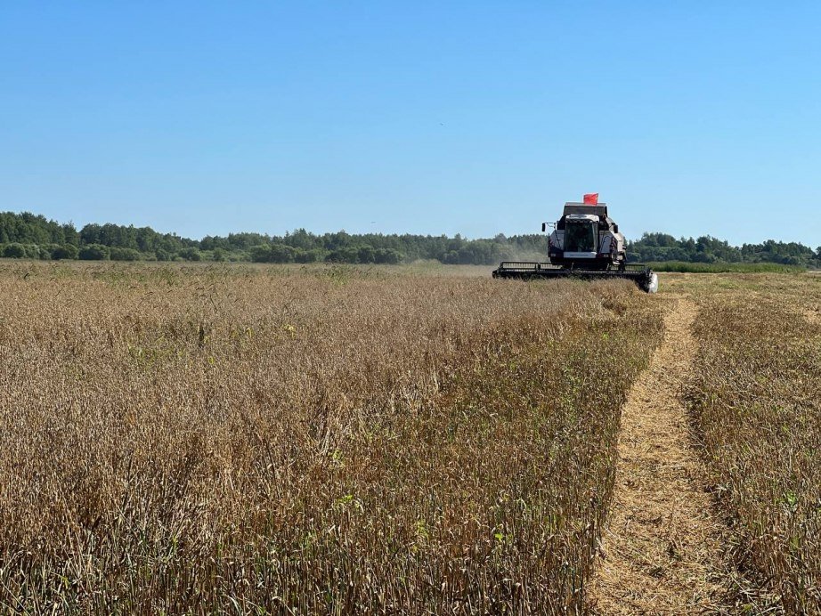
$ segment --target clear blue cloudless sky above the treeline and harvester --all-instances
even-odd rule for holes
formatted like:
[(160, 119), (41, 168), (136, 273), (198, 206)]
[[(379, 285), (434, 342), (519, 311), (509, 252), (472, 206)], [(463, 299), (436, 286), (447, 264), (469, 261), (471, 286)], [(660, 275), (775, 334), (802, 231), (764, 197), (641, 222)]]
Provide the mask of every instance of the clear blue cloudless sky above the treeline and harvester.
[(818, 2), (0, 2), (0, 210), (821, 244)]

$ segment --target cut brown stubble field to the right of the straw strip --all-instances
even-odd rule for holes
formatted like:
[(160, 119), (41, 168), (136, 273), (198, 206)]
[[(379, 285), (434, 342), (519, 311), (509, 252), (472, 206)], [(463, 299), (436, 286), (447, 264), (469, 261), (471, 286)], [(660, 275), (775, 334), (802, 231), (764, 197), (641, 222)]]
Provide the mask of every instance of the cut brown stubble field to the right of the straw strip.
[(687, 396), (750, 613), (821, 612), (821, 279), (715, 280), (698, 293)]

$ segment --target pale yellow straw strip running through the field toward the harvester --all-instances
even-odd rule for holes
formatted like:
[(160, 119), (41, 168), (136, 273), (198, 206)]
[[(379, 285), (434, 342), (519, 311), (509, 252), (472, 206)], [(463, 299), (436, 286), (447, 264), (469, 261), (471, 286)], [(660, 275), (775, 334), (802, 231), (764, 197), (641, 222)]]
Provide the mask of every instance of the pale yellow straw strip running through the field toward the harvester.
[(668, 297), (662, 344), (622, 409), (614, 500), (590, 587), (598, 614), (720, 612), (720, 525), (679, 398), (697, 309)]

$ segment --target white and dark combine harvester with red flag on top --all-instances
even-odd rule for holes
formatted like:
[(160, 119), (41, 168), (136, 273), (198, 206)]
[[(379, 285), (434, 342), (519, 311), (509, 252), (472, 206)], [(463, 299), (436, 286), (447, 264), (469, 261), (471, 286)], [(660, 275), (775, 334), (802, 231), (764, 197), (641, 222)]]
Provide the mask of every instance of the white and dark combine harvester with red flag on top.
[(556, 224), (541, 223), (554, 230), (548, 239), (550, 263), (503, 261), (493, 278), (626, 278), (647, 293), (659, 288), (658, 275), (646, 265), (626, 263), (624, 236), (607, 215), (607, 204), (598, 203), (598, 193), (584, 196), (583, 203), (565, 203)]

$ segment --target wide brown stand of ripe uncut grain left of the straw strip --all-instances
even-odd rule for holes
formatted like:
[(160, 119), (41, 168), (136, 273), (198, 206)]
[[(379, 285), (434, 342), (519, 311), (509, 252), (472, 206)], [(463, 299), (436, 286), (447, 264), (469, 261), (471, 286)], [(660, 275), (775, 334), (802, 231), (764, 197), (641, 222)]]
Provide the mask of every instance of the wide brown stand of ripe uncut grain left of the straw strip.
[(396, 273), (4, 266), (4, 608), (581, 610), (658, 308)]

